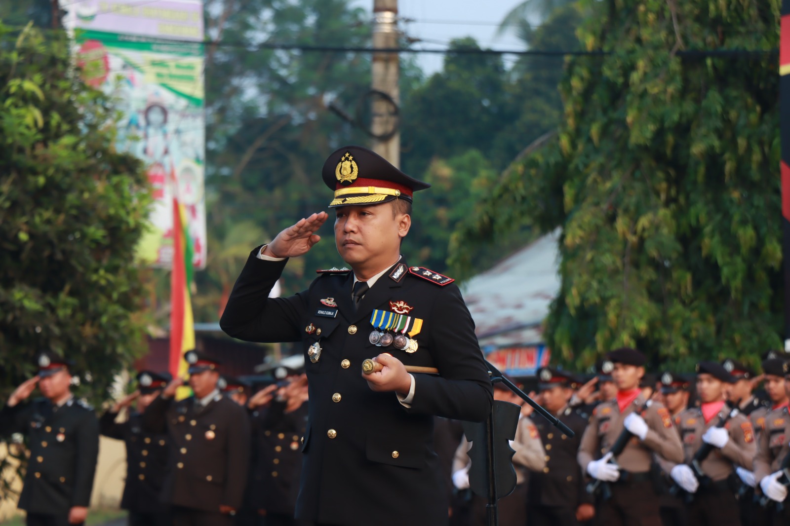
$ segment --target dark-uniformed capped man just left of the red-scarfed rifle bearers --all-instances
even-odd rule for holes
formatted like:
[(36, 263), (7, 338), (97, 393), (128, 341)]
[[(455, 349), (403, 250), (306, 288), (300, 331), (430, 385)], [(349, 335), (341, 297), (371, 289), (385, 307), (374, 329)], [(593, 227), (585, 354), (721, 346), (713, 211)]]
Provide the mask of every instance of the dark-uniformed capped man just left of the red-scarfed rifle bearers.
[(529, 524), (575, 526), (595, 515), (592, 495), (585, 489), (585, 476), (576, 461), (589, 415), (568, 407), (572, 391), (579, 384), (573, 374), (542, 367), (538, 379), (540, 403), (576, 436), (568, 438), (545, 419), (536, 419), (535, 426), (546, 449), (546, 466), (529, 480)]

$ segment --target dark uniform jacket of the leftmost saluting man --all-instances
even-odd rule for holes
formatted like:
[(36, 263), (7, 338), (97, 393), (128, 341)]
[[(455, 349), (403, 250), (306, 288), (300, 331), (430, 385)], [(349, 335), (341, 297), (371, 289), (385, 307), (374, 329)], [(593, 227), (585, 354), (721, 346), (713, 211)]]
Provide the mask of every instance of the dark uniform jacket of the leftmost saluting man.
[(28, 513), (68, 514), (88, 506), (99, 456), (99, 422), (93, 409), (71, 398), (61, 407), (47, 399), (0, 411), (0, 434), (28, 435), (30, 460), (18, 507)]

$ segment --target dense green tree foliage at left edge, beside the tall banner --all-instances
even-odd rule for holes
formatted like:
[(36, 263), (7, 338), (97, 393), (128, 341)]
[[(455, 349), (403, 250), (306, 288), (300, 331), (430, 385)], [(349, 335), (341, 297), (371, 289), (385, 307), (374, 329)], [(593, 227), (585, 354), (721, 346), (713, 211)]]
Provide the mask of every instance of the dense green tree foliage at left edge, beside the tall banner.
[(62, 32), (0, 24), (0, 398), (51, 348), (103, 400), (145, 352), (134, 246), (141, 162), (115, 151), (111, 100), (88, 88)]

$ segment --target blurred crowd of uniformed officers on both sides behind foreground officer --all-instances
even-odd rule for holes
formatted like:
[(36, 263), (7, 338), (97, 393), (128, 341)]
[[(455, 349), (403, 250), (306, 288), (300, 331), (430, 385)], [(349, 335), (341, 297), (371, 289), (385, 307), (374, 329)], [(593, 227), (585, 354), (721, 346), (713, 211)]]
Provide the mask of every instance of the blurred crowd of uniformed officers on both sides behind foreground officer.
[[(768, 353), (762, 371), (727, 359), (651, 374), (640, 351), (623, 348), (592, 378), (553, 367), (513, 378), (573, 438), (495, 384), (496, 400), (522, 406), (510, 441), (517, 486), (498, 502), (499, 524), (790, 524), (788, 358)], [(85, 521), (100, 434), (126, 444), (121, 507), (131, 525), (299, 524), (303, 370), (278, 367), (256, 390), (201, 352), (186, 361), (190, 396), (179, 396), (181, 379), (143, 370), (134, 393), (97, 419), (70, 392), (70, 362), (38, 357), (39, 374), (0, 410), (0, 434), (27, 437), (27, 524)], [(28, 401), (36, 386), (43, 398)], [(469, 447), (461, 422), (435, 417), (453, 526), (486, 524), (487, 502), (469, 489)]]

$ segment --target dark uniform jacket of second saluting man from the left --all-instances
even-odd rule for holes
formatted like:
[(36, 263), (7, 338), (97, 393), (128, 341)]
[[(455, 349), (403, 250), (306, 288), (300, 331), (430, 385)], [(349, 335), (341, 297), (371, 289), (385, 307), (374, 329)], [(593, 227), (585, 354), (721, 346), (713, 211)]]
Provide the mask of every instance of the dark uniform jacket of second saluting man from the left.
[(101, 434), (126, 444), (126, 485), (121, 508), (137, 513), (166, 513), (160, 502), (167, 467), (167, 434), (143, 429), (142, 415), (132, 412), (126, 422), (116, 423), (118, 413), (107, 411), (99, 419)]

